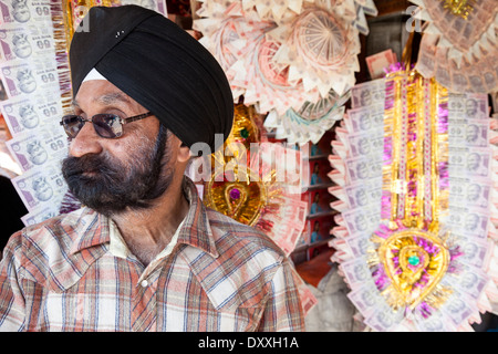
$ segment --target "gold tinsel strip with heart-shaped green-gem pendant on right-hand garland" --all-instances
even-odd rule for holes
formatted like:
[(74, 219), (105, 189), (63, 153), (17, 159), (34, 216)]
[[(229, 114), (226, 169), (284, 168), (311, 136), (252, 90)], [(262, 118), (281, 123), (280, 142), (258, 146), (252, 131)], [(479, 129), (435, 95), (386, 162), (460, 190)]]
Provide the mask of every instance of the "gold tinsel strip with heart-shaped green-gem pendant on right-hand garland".
[(390, 280), (382, 293), (394, 310), (414, 310), (421, 303), (438, 308), (452, 293), (439, 284), (450, 260), (438, 221), (449, 195), (439, 176), (448, 162), (447, 127), (439, 127), (447, 91), (414, 70), (388, 74), (386, 87), (386, 102), (392, 103), (384, 112), (384, 137), (391, 146), (391, 160), (383, 166), (387, 228), (372, 236), (375, 251), (369, 266), (382, 264)]

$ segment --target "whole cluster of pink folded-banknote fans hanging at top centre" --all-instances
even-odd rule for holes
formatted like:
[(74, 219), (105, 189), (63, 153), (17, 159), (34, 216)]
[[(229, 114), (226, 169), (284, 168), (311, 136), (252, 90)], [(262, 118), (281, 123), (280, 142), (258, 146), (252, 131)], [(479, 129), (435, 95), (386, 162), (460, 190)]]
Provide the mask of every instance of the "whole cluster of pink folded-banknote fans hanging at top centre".
[(342, 116), (360, 70), (359, 31), (372, 1), (201, 1), (194, 29), (267, 128), (292, 143), (317, 143)]

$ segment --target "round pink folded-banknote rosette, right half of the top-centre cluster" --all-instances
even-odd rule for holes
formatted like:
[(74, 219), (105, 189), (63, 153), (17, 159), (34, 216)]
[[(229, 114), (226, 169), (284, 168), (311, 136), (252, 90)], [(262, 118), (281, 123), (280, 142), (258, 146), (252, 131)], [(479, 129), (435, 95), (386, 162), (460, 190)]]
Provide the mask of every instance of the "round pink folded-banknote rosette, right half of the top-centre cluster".
[(288, 12), (268, 32), (269, 39), (281, 43), (274, 61), (289, 66), (291, 84), (302, 82), (304, 91), (317, 88), (321, 97), (330, 90), (342, 95), (354, 85), (360, 38), (347, 3), (314, 1), (299, 14)]

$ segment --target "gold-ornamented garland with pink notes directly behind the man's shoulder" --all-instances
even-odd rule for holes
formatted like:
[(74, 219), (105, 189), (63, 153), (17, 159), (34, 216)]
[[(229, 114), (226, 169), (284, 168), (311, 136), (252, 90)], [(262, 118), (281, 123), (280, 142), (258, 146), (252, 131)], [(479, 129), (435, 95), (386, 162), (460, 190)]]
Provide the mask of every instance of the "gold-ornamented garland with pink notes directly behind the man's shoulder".
[(253, 143), (261, 140), (255, 115), (253, 107), (236, 105), (232, 131), (224, 148), (211, 155), (204, 201), (267, 233), (290, 254), (304, 228), (308, 202), (290, 194), (283, 178), (277, 178), (276, 163), (299, 152), (271, 143), (257, 144), (255, 149)]

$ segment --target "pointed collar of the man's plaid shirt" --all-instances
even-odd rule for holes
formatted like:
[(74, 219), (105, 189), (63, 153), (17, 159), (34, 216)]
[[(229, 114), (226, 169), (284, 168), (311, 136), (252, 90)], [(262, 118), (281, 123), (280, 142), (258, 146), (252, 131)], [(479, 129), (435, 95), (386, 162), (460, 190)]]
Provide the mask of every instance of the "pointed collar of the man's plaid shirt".
[[(206, 207), (199, 198), (196, 185), (185, 176), (183, 189), (190, 207), (177, 230), (177, 243), (189, 244), (217, 258), (219, 253), (216, 249)], [(80, 212), (81, 217), (77, 218), (77, 223), (74, 226), (77, 236), (71, 247), (71, 254), (86, 248), (108, 244), (111, 242), (111, 220), (90, 208), (84, 208)]]

